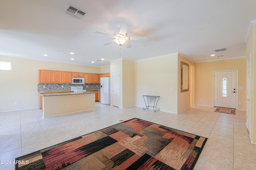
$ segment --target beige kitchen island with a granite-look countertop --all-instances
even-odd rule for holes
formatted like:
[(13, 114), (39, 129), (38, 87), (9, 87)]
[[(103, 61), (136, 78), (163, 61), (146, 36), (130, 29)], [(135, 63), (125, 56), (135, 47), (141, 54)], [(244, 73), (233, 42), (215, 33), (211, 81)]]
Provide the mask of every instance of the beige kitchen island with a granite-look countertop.
[(95, 109), (95, 92), (40, 93), (43, 118)]

